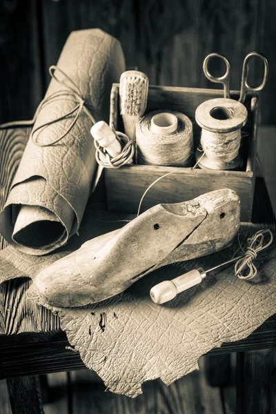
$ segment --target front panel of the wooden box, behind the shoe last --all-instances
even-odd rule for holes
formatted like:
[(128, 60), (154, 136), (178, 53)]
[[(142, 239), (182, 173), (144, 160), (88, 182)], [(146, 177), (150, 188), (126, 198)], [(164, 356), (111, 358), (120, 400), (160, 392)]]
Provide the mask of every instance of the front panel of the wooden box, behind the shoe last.
[(178, 203), (188, 201), (207, 191), (231, 188), (241, 199), (241, 220), (251, 219), (251, 182), (250, 173), (221, 171), (208, 172), (192, 168), (159, 166), (128, 166), (118, 170), (106, 169), (106, 197), (108, 210), (137, 213), (144, 192), (157, 178), (167, 172), (174, 172), (159, 180), (146, 194), (141, 212), (159, 203)]

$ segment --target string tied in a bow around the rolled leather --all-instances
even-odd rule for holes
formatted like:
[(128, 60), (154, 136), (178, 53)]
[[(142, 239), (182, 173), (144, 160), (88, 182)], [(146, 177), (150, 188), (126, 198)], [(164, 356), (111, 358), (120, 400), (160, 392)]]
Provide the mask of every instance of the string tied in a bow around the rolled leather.
[[(39, 115), (39, 112), (43, 108), (45, 108), (49, 103), (52, 103), (54, 101), (61, 101), (61, 100), (71, 101), (71, 102), (76, 103), (76, 106), (72, 110), (67, 112), (65, 115), (61, 115), (61, 117), (58, 117), (56, 119), (52, 119), (52, 121), (47, 121), (45, 124), (37, 126), (37, 128), (34, 128), (34, 130), (32, 130), (32, 133), (31, 133), (32, 142), (35, 145), (40, 146), (40, 147), (53, 146), (53, 145), (57, 144), (59, 141), (61, 141), (61, 139), (66, 137), (66, 135), (70, 132), (70, 130), (72, 130), (73, 126), (75, 126), (77, 120), (79, 119), (79, 116), (80, 116), (82, 110), (83, 110), (83, 112), (86, 113), (86, 115), (88, 115), (88, 117), (91, 119), (93, 124), (96, 123), (95, 118), (92, 116), (90, 110), (88, 110), (88, 105), (84, 101), (84, 99), (81, 95), (81, 92), (80, 92), (78, 86), (76, 85), (76, 83), (74, 81), (72, 81), (72, 79), (70, 79), (70, 77), (68, 77), (68, 75), (66, 75), (66, 73), (63, 72), (63, 70), (61, 70), (60, 68), (58, 68), (55, 65), (50, 66), (49, 72), (50, 72), (50, 76), (53, 79), (55, 79), (55, 81), (57, 81), (60, 85), (66, 87), (66, 90), (59, 90), (57, 92), (53, 92), (52, 95), (49, 95), (48, 97), (44, 98), (41, 101), (41, 103), (39, 103), (39, 106), (37, 107), (37, 110), (34, 113), (34, 117), (30, 121), (13, 121), (13, 122), (8, 122), (6, 124), (0, 125), (0, 129), (12, 128), (12, 127), (16, 127), (16, 126), (31, 126), (37, 120), (37, 116)], [(68, 82), (66, 83), (66, 81), (58, 79), (57, 76), (56, 76), (56, 72), (60, 72), (63, 75), (63, 77), (65, 78), (65, 80), (68, 81)], [(70, 124), (70, 126), (68, 126), (66, 131), (63, 132), (63, 134), (60, 137), (55, 139), (55, 141), (51, 141), (48, 144), (43, 144), (43, 143), (40, 143), (39, 141), (37, 141), (37, 138), (39, 137), (39, 134), (45, 128), (47, 128), (48, 126), (50, 126), (52, 124), (55, 124), (56, 122), (62, 121), (62, 119), (66, 119), (66, 118), (70, 117), (74, 113), (76, 115), (75, 115), (75, 118), (72, 120), (72, 123)], [(35, 132), (38, 132), (38, 134), (34, 138)]]

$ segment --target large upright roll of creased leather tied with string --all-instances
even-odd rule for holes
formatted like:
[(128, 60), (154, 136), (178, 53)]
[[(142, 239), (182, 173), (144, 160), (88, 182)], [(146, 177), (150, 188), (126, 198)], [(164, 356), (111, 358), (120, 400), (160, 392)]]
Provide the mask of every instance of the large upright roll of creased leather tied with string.
[[(108, 121), (112, 83), (119, 81), (121, 72), (125, 70), (119, 41), (99, 29), (72, 32), (63, 47), (57, 67), (75, 82), (95, 121)], [(60, 72), (55, 75), (68, 83)], [(67, 90), (66, 86), (52, 79), (46, 98), (64, 90)], [(51, 101), (40, 110), (34, 128), (65, 115), (76, 104), (77, 101), (66, 97)], [(75, 114), (43, 128), (39, 142), (45, 144), (60, 137), (74, 117)], [(91, 126), (91, 119), (81, 111), (75, 126), (57, 144), (41, 148), (29, 139), (0, 215), (0, 233), (14, 247), (28, 254), (43, 255), (66, 244), (68, 238), (77, 232), (97, 168)], [(34, 137), (37, 137), (37, 132)], [(12, 237), (12, 205), (18, 204), (48, 209), (49, 221), (59, 221), (63, 226), (55, 242), (45, 246), (22, 246), (18, 239)], [(39, 208), (34, 211), (35, 214), (39, 221)], [(22, 226), (23, 231), (30, 232)]]

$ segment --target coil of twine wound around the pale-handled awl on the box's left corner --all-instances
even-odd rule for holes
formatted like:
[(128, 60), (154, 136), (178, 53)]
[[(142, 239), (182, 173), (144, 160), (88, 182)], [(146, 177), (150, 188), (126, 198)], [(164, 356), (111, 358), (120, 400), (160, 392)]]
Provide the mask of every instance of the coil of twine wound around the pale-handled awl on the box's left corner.
[(114, 126), (112, 126), (112, 130), (116, 135), (117, 140), (121, 145), (124, 145), (122, 148), (121, 153), (117, 155), (117, 157), (112, 158), (110, 154), (106, 151), (106, 148), (100, 146), (99, 141), (94, 139), (94, 144), (96, 147), (95, 157), (97, 163), (104, 167), (104, 168), (120, 168), (126, 164), (130, 164), (132, 158), (135, 154), (135, 146), (133, 144), (132, 139), (128, 138), (126, 134), (123, 132), (115, 131)]

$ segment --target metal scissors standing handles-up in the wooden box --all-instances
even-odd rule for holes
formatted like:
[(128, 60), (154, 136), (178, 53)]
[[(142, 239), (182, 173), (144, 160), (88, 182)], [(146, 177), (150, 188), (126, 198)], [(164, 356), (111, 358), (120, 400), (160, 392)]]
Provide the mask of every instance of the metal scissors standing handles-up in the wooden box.
[[(208, 63), (213, 57), (219, 57), (219, 59), (222, 59), (226, 64), (226, 72), (221, 77), (215, 77), (210, 74), (208, 70)], [(264, 62), (264, 77), (262, 80), (262, 83), (257, 86), (256, 88), (253, 88), (253, 86), (248, 85), (248, 72), (249, 72), (249, 63), (248, 61), (251, 59), (251, 57), (257, 57), (262, 59)], [(224, 57), (223, 55), (220, 55), (219, 53), (210, 53), (203, 62), (203, 71), (204, 75), (207, 79), (211, 82), (216, 83), (222, 83), (224, 86), (224, 98), (230, 98), (230, 63)], [(264, 89), (264, 86), (266, 85), (268, 77), (268, 60), (266, 59), (266, 56), (263, 53), (260, 52), (250, 52), (248, 55), (246, 55), (244, 59), (244, 63), (242, 66), (242, 81), (241, 81), (241, 91), (239, 95), (239, 102), (244, 103), (246, 99), (246, 93), (251, 92), (259, 92), (260, 90)]]

